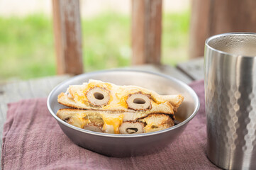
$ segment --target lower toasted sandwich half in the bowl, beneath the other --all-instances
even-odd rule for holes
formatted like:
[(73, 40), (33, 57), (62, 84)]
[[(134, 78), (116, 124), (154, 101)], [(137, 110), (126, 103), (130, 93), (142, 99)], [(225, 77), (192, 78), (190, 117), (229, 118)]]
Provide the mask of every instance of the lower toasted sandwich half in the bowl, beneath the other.
[(86, 130), (116, 134), (154, 132), (174, 125), (169, 115), (162, 113), (116, 113), (64, 108), (57, 116), (65, 122)]

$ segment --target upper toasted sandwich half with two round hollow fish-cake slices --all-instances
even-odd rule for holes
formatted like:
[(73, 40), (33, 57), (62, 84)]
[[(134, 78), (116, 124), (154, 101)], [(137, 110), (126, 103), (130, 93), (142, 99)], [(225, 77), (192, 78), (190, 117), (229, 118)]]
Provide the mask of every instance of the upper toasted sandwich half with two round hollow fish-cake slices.
[(161, 96), (138, 86), (117, 86), (97, 80), (69, 86), (58, 102), (72, 108), (100, 111), (174, 114), (184, 100), (181, 95)]

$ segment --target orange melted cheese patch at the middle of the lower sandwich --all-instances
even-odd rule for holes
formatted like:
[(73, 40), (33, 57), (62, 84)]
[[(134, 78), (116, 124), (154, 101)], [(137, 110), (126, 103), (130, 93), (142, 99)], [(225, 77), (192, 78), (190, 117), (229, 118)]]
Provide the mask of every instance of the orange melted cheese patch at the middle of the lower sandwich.
[(107, 133), (119, 134), (119, 127), (123, 123), (123, 114), (101, 114), (104, 120), (104, 125), (102, 130)]

